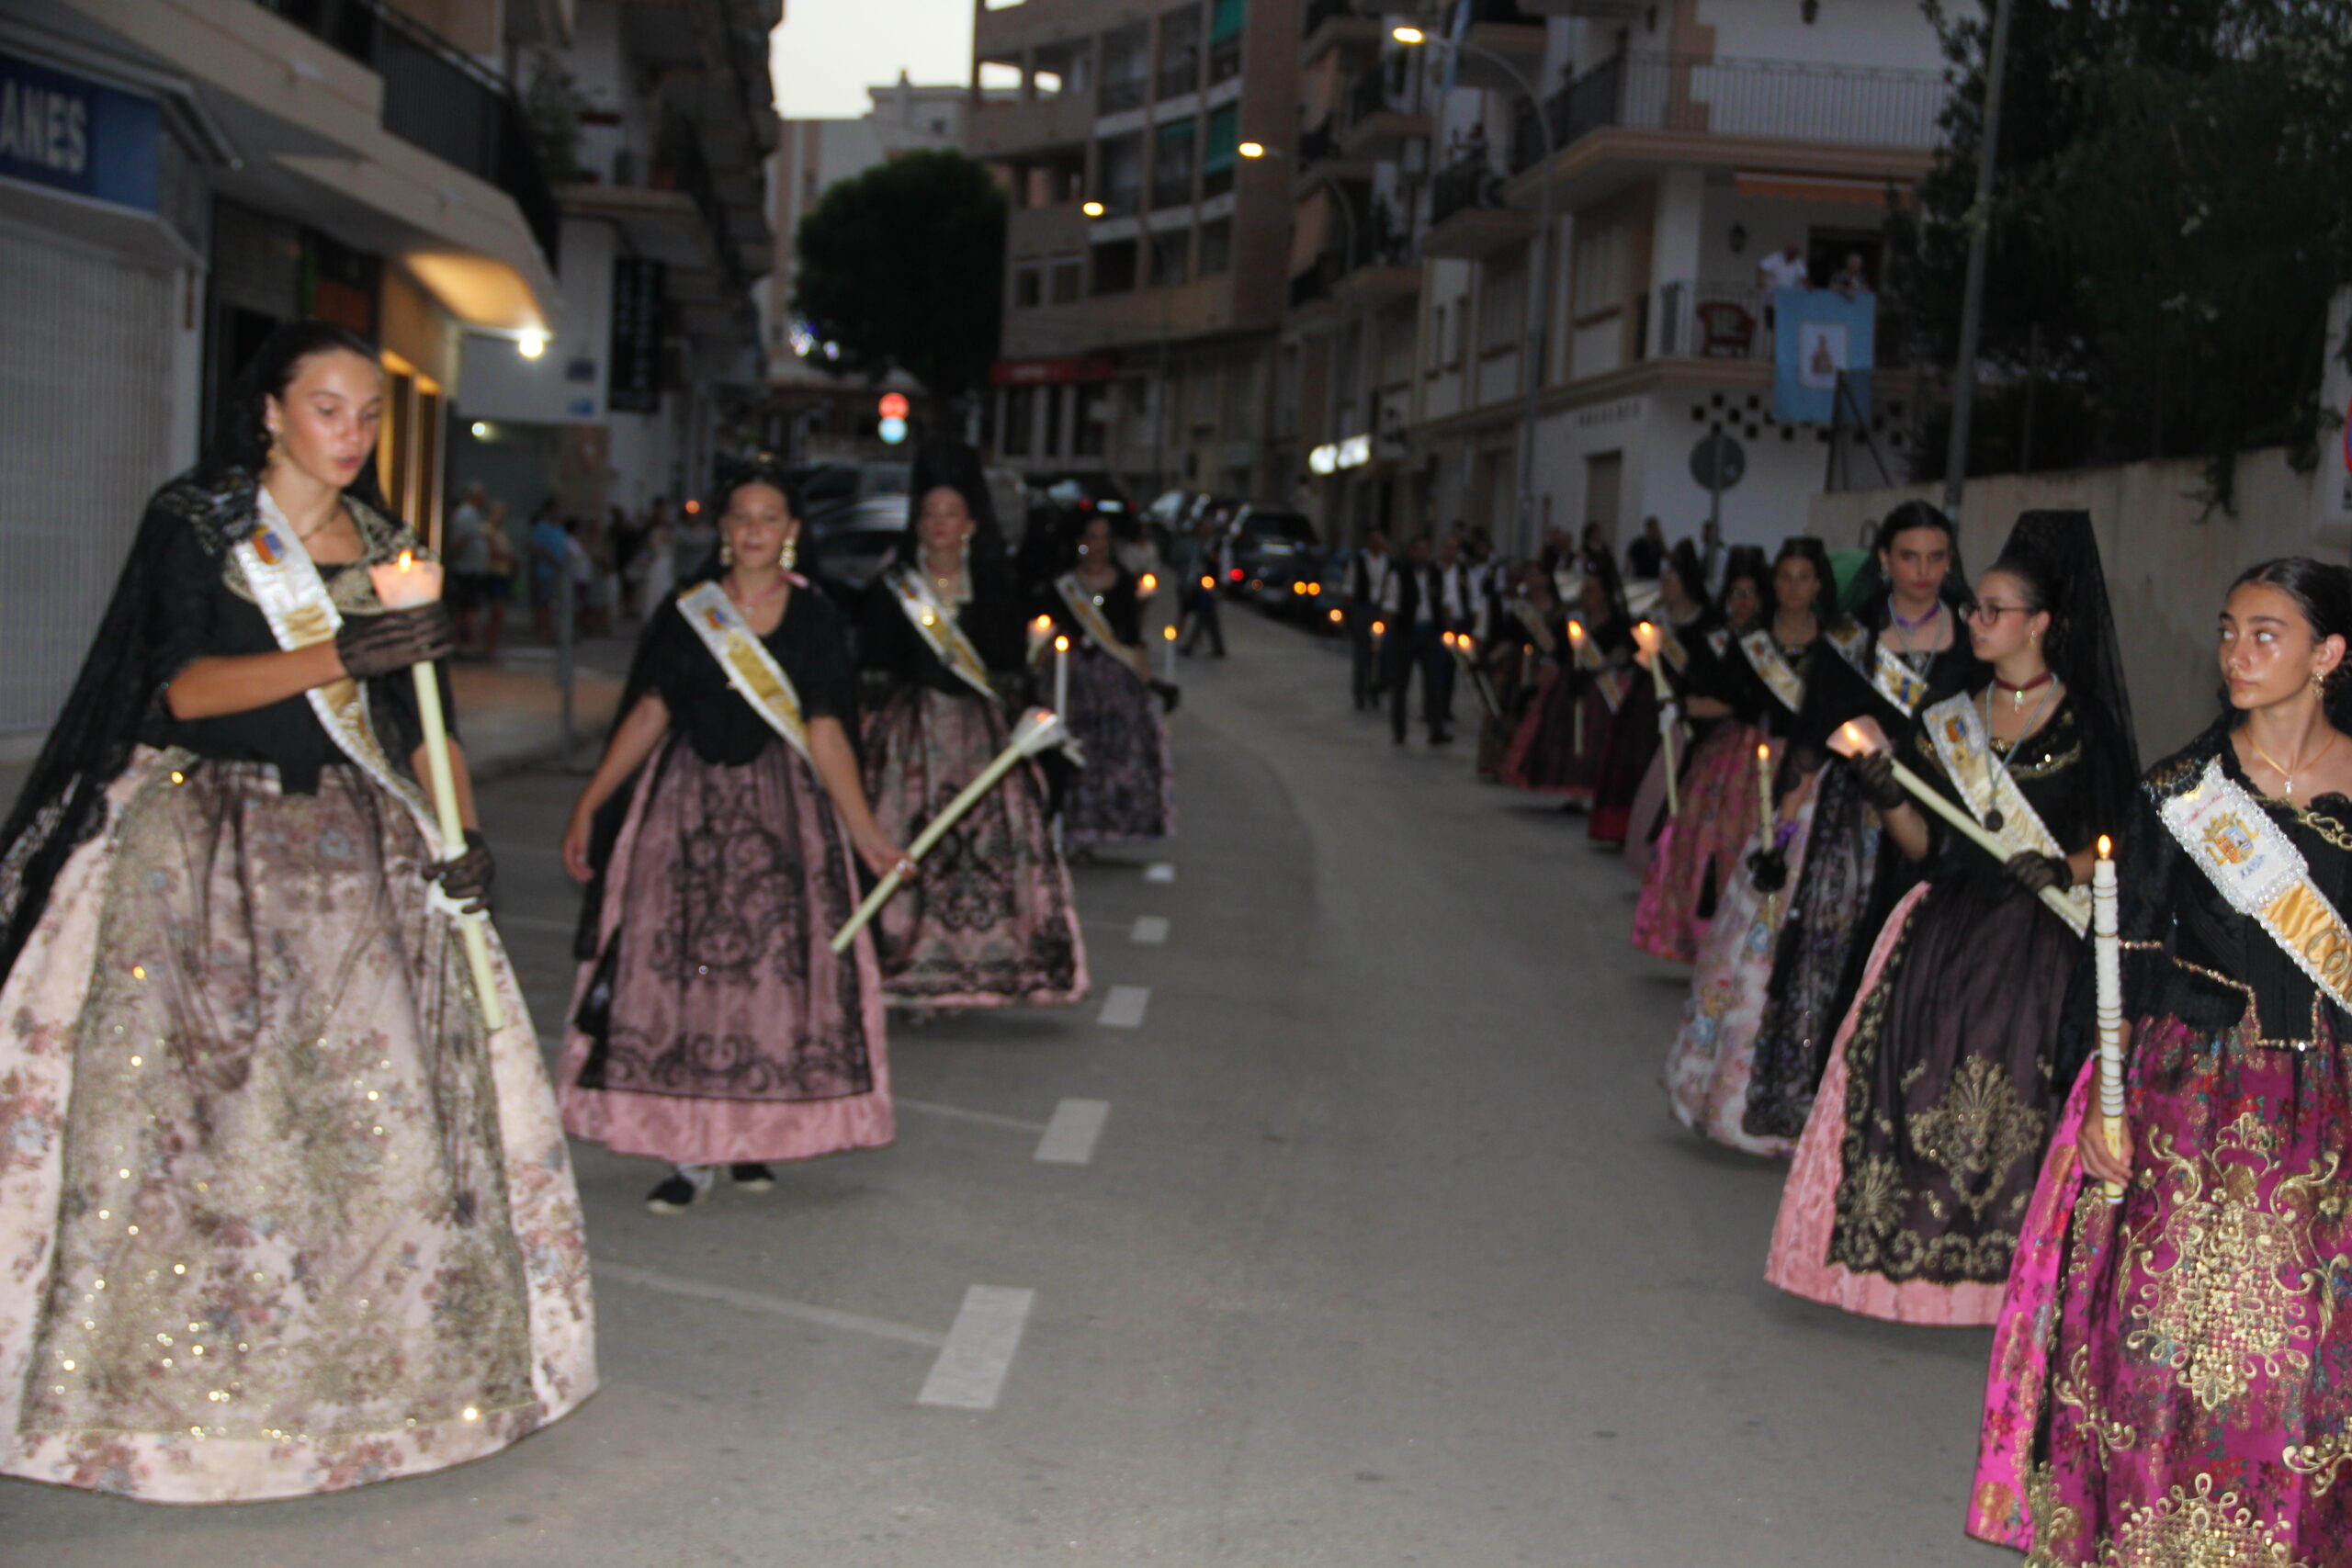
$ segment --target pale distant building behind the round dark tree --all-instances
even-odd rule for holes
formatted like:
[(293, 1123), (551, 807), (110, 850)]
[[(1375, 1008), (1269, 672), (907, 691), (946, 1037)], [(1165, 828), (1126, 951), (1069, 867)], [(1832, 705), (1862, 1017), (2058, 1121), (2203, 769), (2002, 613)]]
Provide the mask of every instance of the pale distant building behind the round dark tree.
[(967, 85), (920, 85), (898, 73), (894, 85), (868, 87), (866, 96), (870, 108), (854, 120), (786, 120), (776, 155), (767, 160), (776, 233), (776, 268), (760, 289), (769, 444), (804, 461), (880, 451), (873, 440), (877, 393), (901, 393), (917, 423), (929, 418), (927, 393), (913, 376), (894, 371), (884, 386), (842, 381), (828, 374), (826, 346), (793, 320), (795, 233), (826, 190), (903, 153), (964, 148), (974, 106)]

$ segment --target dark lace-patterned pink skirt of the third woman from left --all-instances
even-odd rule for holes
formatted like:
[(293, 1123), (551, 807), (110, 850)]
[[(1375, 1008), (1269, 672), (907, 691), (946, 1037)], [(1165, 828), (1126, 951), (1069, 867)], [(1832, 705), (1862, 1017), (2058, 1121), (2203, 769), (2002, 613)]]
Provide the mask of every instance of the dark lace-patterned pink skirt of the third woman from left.
[[(866, 717), (866, 795), (894, 844), (910, 844), (1004, 750), (993, 698), (906, 684)], [(1051, 1006), (1087, 994), (1070, 870), (1054, 849), (1044, 780), (1016, 766), (882, 905), (875, 954), (891, 999), (929, 1006)]]

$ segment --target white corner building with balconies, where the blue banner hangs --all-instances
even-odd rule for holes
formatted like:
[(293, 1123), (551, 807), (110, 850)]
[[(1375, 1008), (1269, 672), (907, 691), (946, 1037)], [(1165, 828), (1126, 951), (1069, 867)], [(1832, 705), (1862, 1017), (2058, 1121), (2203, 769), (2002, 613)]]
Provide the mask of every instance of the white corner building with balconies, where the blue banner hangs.
[[(1409, 16), (1421, 47), (1364, 9), (1305, 16), (1279, 350), (1298, 414), (1277, 454), (1341, 536), (1463, 522), (1531, 548), (1651, 515), (1693, 534), (1719, 508), (1726, 538), (1771, 543), (1832, 454), (1900, 470), (1917, 388), (1882, 226), (1950, 94), (1912, 0), (1451, 0)], [(1816, 282), (1858, 256), (1879, 292), (1867, 442), (1771, 416), (1757, 266), (1788, 244)], [(1696, 461), (1715, 435), (1738, 447), (1719, 494)]]

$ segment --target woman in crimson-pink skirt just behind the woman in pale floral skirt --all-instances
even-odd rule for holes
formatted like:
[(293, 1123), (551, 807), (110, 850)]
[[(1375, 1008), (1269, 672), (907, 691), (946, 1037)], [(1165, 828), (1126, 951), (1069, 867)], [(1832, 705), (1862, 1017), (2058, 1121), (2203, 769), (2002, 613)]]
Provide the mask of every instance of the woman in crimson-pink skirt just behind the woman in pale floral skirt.
[[(1675, 550), (1679, 555), (1682, 545)], [(1762, 820), (1757, 745), (1771, 691), (1736, 644), (1762, 625), (1769, 592), (1764, 552), (1733, 550), (1722, 623), (1684, 639), (1691, 668), (1682, 677), (1682, 710), (1693, 745), (1682, 762), (1682, 811), (1661, 827), (1632, 910), (1632, 945), (1661, 959), (1689, 964), (1698, 957), (1708, 922)]]

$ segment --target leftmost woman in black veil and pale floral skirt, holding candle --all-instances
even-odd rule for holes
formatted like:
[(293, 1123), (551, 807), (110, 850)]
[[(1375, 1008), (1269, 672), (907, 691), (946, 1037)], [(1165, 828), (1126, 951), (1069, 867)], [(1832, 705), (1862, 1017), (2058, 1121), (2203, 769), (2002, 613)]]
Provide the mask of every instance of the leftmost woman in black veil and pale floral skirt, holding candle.
[(445, 846), (416, 783), (409, 665), (449, 621), (369, 576), (421, 550), (379, 510), (381, 407), (348, 331), (263, 343), (7, 823), (0, 1474), (327, 1493), (595, 1389), (555, 1098), (496, 940), (494, 1030), (452, 914), (489, 846)]

